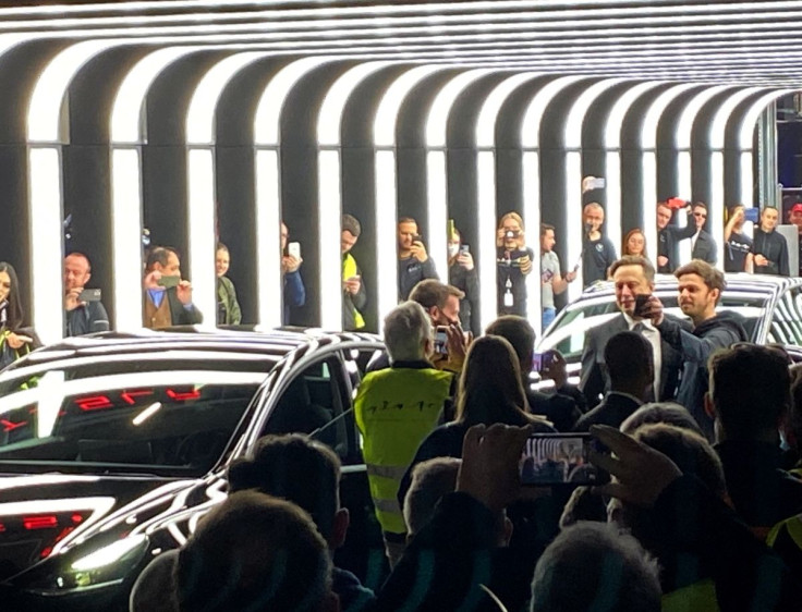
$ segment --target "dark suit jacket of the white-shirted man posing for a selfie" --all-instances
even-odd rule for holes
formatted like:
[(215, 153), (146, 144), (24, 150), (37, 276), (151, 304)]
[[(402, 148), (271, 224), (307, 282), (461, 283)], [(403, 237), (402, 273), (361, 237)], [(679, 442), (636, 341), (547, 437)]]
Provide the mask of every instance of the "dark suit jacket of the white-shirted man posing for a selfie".
[[(668, 315), (666, 315), (669, 318)], [(684, 329), (691, 331), (688, 321), (670, 317), (678, 321)], [(623, 314), (615, 317), (604, 326), (597, 326), (587, 331), (585, 346), (582, 350), (582, 376), (580, 378), (580, 390), (587, 397), (587, 405), (598, 404), (598, 396), (610, 389), (610, 380), (605, 368), (605, 346), (607, 341), (621, 331), (628, 331), (629, 326)], [(660, 402), (673, 400), (679, 385), (680, 371), (682, 370), (682, 356), (668, 342), (661, 339), (661, 364), (660, 364)]]

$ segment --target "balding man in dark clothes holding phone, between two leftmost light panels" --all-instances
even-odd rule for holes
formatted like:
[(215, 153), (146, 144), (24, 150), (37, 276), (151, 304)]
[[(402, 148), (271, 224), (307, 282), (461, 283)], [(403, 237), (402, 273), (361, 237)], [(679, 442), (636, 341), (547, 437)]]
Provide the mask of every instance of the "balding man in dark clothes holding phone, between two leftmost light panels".
[(109, 330), (109, 315), (100, 302), (100, 290), (87, 290), (92, 264), (83, 253), (64, 257), (65, 335), (83, 335)]

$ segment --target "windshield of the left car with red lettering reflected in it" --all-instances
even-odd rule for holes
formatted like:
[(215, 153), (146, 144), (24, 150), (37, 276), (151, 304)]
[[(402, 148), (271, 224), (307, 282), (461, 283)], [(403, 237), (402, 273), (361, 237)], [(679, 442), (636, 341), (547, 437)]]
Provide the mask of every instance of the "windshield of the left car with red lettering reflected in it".
[(202, 476), (220, 458), (272, 363), (129, 356), (5, 372), (0, 472)]

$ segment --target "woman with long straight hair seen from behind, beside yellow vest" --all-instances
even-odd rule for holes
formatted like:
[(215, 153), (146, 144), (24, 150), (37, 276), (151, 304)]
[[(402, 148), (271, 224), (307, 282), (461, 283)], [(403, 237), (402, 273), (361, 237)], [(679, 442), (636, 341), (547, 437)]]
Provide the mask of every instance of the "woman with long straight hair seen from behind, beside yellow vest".
[(498, 335), (474, 340), (460, 376), (457, 417), (453, 423), (435, 429), (421, 443), (401, 480), (399, 501), (403, 505), (415, 465), (434, 457), (462, 457), (462, 439), (474, 425), (531, 425), (533, 432), (555, 431), (547, 420), (527, 411), (521, 367), (512, 345)]

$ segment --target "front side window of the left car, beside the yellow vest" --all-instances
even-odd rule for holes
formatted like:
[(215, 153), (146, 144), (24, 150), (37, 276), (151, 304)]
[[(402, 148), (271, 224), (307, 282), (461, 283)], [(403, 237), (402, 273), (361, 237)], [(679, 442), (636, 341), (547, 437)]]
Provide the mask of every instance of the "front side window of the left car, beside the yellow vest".
[(351, 454), (343, 413), (350, 407), (342, 364), (330, 356), (307, 366), (281, 393), (263, 430), (305, 433), (330, 446), (341, 460)]

